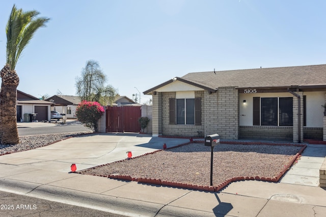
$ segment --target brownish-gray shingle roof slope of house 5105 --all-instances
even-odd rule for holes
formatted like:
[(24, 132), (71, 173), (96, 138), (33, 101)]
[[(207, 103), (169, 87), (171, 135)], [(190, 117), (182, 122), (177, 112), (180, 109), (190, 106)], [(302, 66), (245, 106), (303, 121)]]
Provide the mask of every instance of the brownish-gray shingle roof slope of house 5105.
[(182, 79), (208, 87), (326, 85), (326, 65), (188, 73)]

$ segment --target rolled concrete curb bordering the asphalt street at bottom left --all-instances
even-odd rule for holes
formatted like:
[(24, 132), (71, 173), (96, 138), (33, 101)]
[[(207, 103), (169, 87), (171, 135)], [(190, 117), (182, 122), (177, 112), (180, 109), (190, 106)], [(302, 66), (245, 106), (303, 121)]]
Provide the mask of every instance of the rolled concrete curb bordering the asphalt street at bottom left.
[[(37, 184), (7, 178), (1, 178), (0, 180), (2, 183), (0, 190), (4, 192), (97, 209), (113, 214), (155, 216), (165, 206), (165, 204), (82, 192), (47, 184)], [(180, 216), (182, 216), (181, 213)]]

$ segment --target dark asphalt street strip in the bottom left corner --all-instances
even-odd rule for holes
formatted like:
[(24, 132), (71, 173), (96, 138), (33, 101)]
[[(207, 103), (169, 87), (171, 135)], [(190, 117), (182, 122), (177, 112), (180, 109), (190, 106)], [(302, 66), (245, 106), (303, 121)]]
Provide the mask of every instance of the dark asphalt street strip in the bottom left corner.
[(108, 216), (124, 217), (124, 215), (111, 214), (96, 209), (73, 206), (64, 203), (43, 200), (24, 195), (0, 191), (0, 216)]

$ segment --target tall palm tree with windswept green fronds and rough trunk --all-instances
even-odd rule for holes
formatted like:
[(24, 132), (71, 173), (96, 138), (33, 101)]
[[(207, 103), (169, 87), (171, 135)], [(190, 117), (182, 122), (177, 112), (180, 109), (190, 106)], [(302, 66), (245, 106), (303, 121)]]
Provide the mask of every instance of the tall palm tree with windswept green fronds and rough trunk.
[(6, 65), (1, 70), (0, 137), (2, 144), (18, 144), (16, 101), (19, 77), (15, 71), (19, 56), (33, 38), (36, 30), (45, 26), (49, 18), (40, 17), (38, 11), (17, 9), (14, 5), (6, 26)]

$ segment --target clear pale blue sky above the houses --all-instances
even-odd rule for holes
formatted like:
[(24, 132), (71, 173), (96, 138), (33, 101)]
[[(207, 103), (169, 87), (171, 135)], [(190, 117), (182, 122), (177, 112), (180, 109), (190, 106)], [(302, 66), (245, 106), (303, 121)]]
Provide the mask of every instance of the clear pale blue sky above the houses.
[[(97, 60), (132, 99), (173, 77), (203, 72), (326, 64), (326, 1), (16, 0), (0, 7), (0, 63), (13, 4), (51, 18), (16, 67), (18, 89), (75, 95), (75, 77)], [(141, 95), (142, 103), (151, 97)]]

